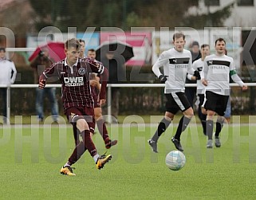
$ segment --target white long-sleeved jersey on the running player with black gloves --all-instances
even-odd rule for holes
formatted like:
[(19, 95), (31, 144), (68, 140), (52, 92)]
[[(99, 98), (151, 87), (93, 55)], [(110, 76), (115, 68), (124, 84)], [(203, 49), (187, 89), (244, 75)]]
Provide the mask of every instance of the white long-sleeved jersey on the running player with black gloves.
[(152, 67), (157, 77), (161, 75), (161, 66), (163, 66), (163, 74), (168, 76), (164, 93), (184, 92), (187, 73), (195, 72), (192, 68), (191, 52), (186, 49), (178, 52), (174, 48), (164, 51)]

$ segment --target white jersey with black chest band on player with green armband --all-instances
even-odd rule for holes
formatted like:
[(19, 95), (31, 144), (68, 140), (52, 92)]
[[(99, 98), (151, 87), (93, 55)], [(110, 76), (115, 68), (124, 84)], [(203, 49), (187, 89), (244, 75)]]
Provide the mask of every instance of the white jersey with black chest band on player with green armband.
[(230, 95), (230, 71), (235, 70), (232, 57), (215, 54), (204, 59), (201, 78), (207, 80), (206, 91), (215, 92), (219, 95)]

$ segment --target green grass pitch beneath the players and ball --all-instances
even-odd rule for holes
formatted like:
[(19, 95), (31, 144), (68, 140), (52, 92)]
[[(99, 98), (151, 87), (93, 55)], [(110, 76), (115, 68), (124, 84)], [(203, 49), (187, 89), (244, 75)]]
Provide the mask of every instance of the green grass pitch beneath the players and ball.
[[(164, 162), (175, 150), (176, 126), (160, 138), (158, 154), (147, 143), (156, 124), (119, 126), (108, 126), (118, 139), (108, 151), (112, 161), (96, 170), (86, 151), (73, 166), (75, 177), (59, 172), (73, 151), (70, 125), (1, 129), (1, 199), (255, 199), (254, 126), (224, 127), (223, 146), (207, 149), (201, 127), (191, 125), (182, 135), (187, 163), (181, 171)], [(104, 153), (100, 134), (93, 140)]]

